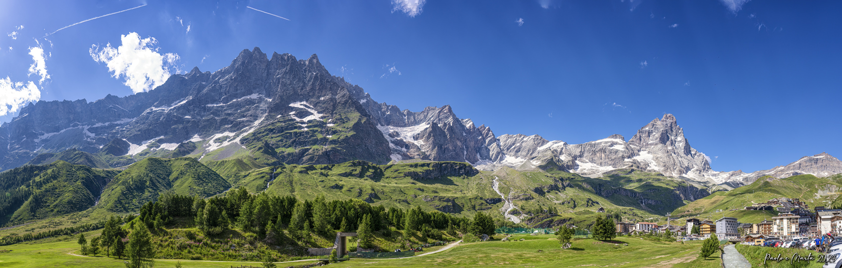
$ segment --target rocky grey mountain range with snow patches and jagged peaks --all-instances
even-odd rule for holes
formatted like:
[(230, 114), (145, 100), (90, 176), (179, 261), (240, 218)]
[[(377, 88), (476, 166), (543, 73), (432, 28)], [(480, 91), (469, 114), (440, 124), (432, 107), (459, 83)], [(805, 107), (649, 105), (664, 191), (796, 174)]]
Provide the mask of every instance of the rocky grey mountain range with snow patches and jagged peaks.
[(825, 153), (766, 171), (713, 171), (669, 113), (628, 140), (615, 134), (571, 145), (538, 135), (497, 136), (456, 117), (450, 106), (412, 112), (376, 102), (330, 75), (317, 55), (269, 57), (258, 48), (242, 50), (219, 71), (194, 68), (170, 76), (150, 92), (29, 104), (0, 126), (0, 170), (67, 158), (119, 167), (153, 156), (240, 160), (254, 167), (349, 160), (459, 161), (482, 171), (552, 165), (590, 177), (632, 168), (725, 190), (761, 176), (842, 173), (842, 161)]

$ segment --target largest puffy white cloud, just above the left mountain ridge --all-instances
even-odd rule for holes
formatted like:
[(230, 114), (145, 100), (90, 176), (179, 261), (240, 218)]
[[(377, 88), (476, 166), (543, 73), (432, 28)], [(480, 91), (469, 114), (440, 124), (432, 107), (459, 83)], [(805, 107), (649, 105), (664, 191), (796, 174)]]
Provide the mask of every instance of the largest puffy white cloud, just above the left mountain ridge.
[(159, 54), (159, 48), (155, 47), (155, 38), (141, 39), (140, 34), (129, 33), (121, 34), (120, 41), (122, 45), (119, 47), (108, 44), (99, 50), (98, 45), (92, 45), (88, 52), (93, 60), (104, 62), (109, 71), (114, 72), (115, 78), (125, 76), (124, 84), (129, 86), (132, 92), (148, 92), (167, 81), (170, 68), (173, 68), (173, 72), (179, 71), (175, 66), (179, 55)]

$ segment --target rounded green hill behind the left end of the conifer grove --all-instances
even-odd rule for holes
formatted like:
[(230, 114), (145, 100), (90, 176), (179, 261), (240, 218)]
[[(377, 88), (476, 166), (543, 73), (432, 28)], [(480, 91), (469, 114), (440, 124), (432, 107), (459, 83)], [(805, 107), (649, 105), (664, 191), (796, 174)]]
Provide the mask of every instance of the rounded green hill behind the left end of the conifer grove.
[(103, 191), (101, 203), (110, 212), (128, 213), (163, 192), (210, 197), (230, 187), (228, 181), (193, 158), (150, 157), (115, 176)]

